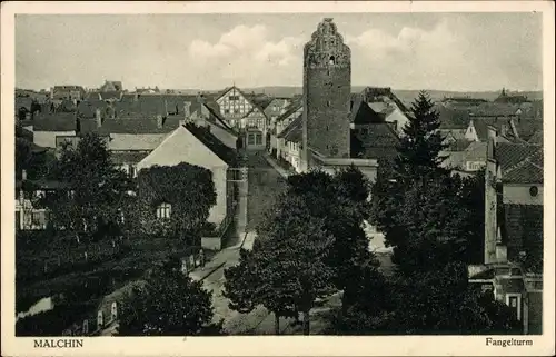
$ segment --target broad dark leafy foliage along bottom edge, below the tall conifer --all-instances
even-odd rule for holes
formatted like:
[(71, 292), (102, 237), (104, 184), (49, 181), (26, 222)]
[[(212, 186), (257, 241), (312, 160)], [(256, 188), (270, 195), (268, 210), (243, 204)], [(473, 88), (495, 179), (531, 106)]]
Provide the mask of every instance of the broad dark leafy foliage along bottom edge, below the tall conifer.
[(475, 335), (520, 330), (507, 306), (469, 287), (465, 264), (450, 262), (437, 271), (398, 276), (390, 281), (370, 275), (364, 281), (367, 289), (361, 292), (366, 295), (335, 320), (336, 333)]

